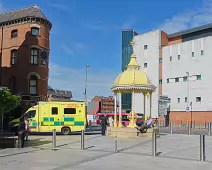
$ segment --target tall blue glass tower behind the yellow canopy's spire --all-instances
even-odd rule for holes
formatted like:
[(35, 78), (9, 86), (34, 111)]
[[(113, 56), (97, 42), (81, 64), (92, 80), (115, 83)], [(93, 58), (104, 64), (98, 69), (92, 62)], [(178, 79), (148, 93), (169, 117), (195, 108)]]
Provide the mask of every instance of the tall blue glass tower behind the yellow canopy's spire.
[[(122, 31), (122, 72), (126, 70), (126, 66), (130, 62), (133, 49), (130, 46), (130, 42), (133, 40), (133, 37), (138, 35), (134, 30), (123, 30)], [(122, 95), (122, 109), (131, 111), (131, 94)]]

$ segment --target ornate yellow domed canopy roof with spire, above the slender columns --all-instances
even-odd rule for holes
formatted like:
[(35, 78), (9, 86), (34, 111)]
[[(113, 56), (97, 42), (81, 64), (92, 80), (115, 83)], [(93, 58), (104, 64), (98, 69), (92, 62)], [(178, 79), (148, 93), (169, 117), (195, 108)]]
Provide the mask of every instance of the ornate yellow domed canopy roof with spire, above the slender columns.
[(133, 53), (127, 70), (121, 73), (111, 86), (112, 91), (154, 91), (156, 87), (149, 80), (147, 73), (140, 70), (136, 55)]

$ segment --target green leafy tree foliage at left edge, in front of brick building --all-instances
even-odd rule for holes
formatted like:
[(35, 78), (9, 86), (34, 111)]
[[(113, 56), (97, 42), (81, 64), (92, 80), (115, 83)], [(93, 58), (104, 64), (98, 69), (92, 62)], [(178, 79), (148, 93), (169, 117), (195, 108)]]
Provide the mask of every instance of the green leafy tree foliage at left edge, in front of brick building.
[(0, 109), (3, 113), (7, 113), (15, 109), (21, 102), (21, 97), (12, 95), (6, 88), (0, 89)]

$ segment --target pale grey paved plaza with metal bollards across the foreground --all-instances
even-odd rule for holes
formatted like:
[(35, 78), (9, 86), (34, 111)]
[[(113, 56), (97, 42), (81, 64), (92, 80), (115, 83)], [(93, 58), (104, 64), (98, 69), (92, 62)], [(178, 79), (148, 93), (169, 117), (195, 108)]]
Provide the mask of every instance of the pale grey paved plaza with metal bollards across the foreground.
[(115, 139), (107, 136), (85, 137), (86, 150), (80, 150), (80, 135), (57, 136), (57, 151), (51, 150), (51, 136), (30, 136), (37, 145), (24, 149), (0, 150), (0, 169), (145, 169), (211, 170), (212, 137), (206, 136), (206, 162), (200, 162), (199, 135), (161, 135), (157, 139), (159, 156), (152, 157), (149, 138)]

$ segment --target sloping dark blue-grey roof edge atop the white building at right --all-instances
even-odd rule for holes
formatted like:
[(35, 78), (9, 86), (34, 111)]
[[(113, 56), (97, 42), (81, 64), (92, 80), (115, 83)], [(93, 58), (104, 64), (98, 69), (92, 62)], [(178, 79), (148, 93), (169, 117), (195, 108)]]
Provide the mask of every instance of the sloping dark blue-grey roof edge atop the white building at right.
[(195, 28), (191, 28), (191, 29), (187, 29), (187, 30), (183, 30), (183, 31), (179, 31), (179, 32), (176, 32), (176, 33), (168, 34), (168, 38), (182, 36), (182, 35), (185, 35), (185, 34), (201, 31), (201, 30), (208, 29), (208, 28), (212, 28), (212, 23), (202, 25), (202, 26), (199, 26), (199, 27), (195, 27)]

